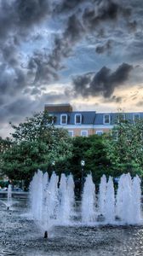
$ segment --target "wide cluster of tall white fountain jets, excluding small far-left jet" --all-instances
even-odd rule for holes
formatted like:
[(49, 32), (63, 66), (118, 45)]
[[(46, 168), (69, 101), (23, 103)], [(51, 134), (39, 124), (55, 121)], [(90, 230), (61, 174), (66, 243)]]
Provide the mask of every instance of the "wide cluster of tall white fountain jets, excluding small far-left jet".
[[(59, 185), (60, 184), (60, 185)], [(88, 174), (83, 186), (79, 218), (76, 216), (74, 182), (72, 174), (59, 177), (53, 172), (35, 173), (31, 181), (31, 212), (44, 230), (44, 237), (56, 225), (140, 224), (140, 178), (123, 174), (115, 193), (112, 177), (100, 180), (96, 195), (92, 175)], [(102, 216), (103, 218), (99, 218)]]

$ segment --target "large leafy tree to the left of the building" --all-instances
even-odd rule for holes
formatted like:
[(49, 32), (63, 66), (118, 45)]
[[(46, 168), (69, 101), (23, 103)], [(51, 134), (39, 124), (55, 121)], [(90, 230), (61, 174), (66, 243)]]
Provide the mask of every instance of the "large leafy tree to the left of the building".
[(38, 168), (52, 171), (57, 164), (72, 156), (72, 139), (65, 129), (55, 128), (48, 113), (36, 113), (15, 126), (13, 143), (3, 152), (2, 170), (10, 178), (27, 179)]

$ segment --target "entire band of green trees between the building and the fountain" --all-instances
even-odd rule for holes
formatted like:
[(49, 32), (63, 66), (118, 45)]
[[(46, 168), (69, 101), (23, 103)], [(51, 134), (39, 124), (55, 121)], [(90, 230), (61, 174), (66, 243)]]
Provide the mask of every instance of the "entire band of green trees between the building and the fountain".
[[(104, 174), (112, 177), (123, 172), (143, 176), (143, 120), (124, 121), (122, 115), (112, 135), (69, 137), (65, 129), (55, 128), (48, 113), (36, 113), (15, 126), (13, 141), (0, 138), (0, 170), (11, 179), (29, 180), (37, 169), (60, 174), (82, 175), (92, 172), (99, 183)], [(117, 136), (117, 139), (116, 139)], [(55, 166), (52, 162), (55, 161)]]

